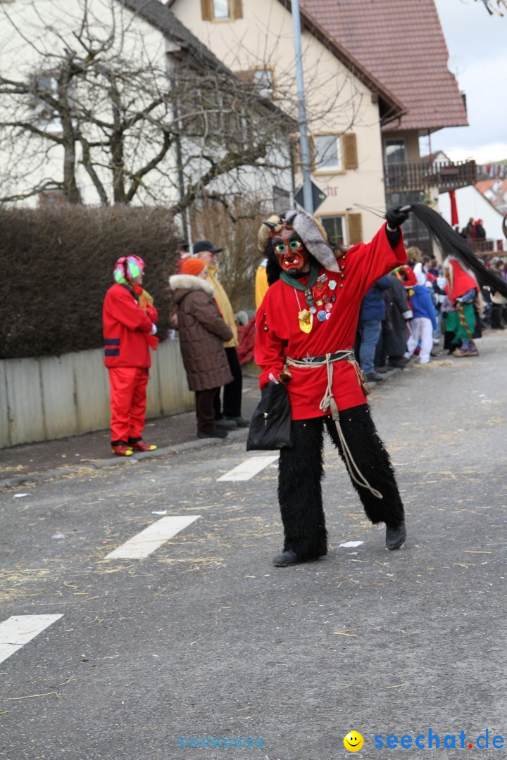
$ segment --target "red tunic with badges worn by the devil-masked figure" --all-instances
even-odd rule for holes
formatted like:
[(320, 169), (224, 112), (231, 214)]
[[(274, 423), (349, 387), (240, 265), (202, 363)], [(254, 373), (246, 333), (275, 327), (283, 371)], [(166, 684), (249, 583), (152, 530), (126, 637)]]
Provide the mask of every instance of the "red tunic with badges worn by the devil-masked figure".
[[(323, 356), (340, 350), (353, 349), (356, 340), (357, 320), (361, 300), (379, 277), (405, 264), (407, 254), (403, 237), (395, 250), (385, 234), (385, 226), (369, 243), (353, 245), (339, 260), (339, 273), (319, 267), (318, 275), (325, 273), (328, 280), (322, 292), (314, 287), (315, 305), (319, 298), (328, 296), (328, 302), (336, 299), (325, 321), (313, 318), (312, 331), (305, 333), (299, 328), (298, 312), (307, 309), (302, 290), (287, 285), (283, 280), (273, 283), (259, 306), (256, 316), (255, 362), (261, 367), (261, 388), (269, 382), (272, 372), (277, 378), (284, 369), (284, 359), (304, 359), (305, 356)], [(336, 282), (331, 290), (330, 282)], [(299, 280), (302, 284), (308, 278)], [(325, 306), (325, 304), (323, 304)], [(323, 306), (316, 306), (322, 309)], [(266, 329), (267, 328), (267, 329)], [(356, 371), (347, 361), (333, 363), (332, 390), (339, 410), (366, 403), (366, 397), (358, 382)], [(325, 366), (299, 369), (290, 367), (292, 378), (287, 383), (293, 420), (309, 420), (325, 416), (329, 410), (318, 405), (328, 386)]]

